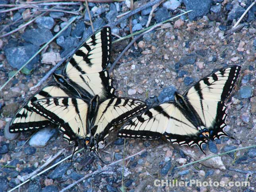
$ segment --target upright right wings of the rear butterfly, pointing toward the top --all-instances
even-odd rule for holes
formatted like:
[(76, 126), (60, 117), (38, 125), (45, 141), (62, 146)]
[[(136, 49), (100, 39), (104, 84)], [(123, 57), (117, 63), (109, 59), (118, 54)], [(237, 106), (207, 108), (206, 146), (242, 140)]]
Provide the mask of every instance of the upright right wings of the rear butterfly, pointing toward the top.
[(68, 81), (85, 97), (116, 97), (106, 70), (111, 60), (111, 43), (111, 28), (99, 29), (76, 50), (64, 68)]

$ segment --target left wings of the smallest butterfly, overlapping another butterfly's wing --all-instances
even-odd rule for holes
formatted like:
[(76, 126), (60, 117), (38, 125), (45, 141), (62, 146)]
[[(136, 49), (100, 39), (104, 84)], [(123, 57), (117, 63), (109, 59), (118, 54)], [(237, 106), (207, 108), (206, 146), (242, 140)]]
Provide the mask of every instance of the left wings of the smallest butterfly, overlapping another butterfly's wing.
[(78, 137), (85, 138), (89, 104), (83, 99), (72, 97), (47, 97), (32, 103), (32, 110), (41, 114), (53, 124), (60, 125), (63, 138), (68, 142)]

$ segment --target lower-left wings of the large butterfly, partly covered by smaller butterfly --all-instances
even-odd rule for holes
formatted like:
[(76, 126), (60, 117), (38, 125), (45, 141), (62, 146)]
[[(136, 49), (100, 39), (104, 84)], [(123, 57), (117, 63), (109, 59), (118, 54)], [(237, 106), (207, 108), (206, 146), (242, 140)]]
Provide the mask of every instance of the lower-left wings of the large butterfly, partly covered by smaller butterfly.
[(62, 87), (56, 84), (50, 84), (41, 89), (38, 93), (33, 95), (21, 109), (16, 113), (12, 118), (12, 121), (9, 126), (10, 133), (19, 133), (26, 132), (31, 130), (38, 130), (45, 128), (50, 125), (50, 121), (47, 118), (44, 118), (40, 114), (33, 112), (32, 103), (38, 99), (43, 99), (45, 97), (56, 97), (56, 96), (68, 96), (75, 95), (75, 92), (72, 92), (66, 87)]

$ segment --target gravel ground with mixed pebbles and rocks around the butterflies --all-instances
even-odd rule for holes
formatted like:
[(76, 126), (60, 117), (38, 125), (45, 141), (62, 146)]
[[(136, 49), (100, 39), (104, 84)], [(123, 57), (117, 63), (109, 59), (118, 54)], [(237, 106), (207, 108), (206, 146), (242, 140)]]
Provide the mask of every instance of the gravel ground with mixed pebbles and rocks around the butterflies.
[[(129, 2), (126, 0), (122, 3), (112, 4), (89, 3), (93, 23), (99, 27), (114, 21), (117, 15), (129, 10)], [(227, 33), (227, 30), (235, 23), (233, 19), (238, 19), (251, 2), (216, 0), (208, 3), (208, 1), (204, 1), (206, 7), (198, 6), (196, 2), (199, 5), (202, 4), (200, 0), (183, 0), (182, 4), (177, 0), (170, 0), (155, 10), (151, 24), (180, 14), (178, 9), (193, 8), (195, 11), (188, 16), (182, 16), (171, 23), (166, 23), (163, 29), (145, 34), (137, 41), (137, 49), (132, 46), (122, 56), (111, 72), (116, 93), (120, 97), (142, 99), (149, 105), (161, 103), (166, 99), (173, 99), (172, 94), (175, 90), (184, 93), (193, 83), (215, 69), (233, 64), (240, 65), (242, 71), (239, 83), (229, 100), (226, 101), (226, 103), (232, 104), (229, 105), (226, 130), (235, 140), (222, 138), (210, 142), (205, 147), (205, 152), (206, 154), (210, 152), (218, 154), (255, 145), (256, 20), (254, 11), (256, 7), (254, 6), (242, 20), (244, 26), (240, 30)], [(8, 2), (0, 0), (0, 3)], [(145, 3), (146, 1), (134, 2), (134, 6), (138, 8)], [(79, 6), (72, 5), (69, 10), (78, 10)], [(5, 9), (8, 7), (0, 8), (0, 11)], [(23, 18), (16, 24), (7, 27), (5, 32), (9, 32), (25, 22), (26, 18), (23, 13), (27, 10), (29, 9), (14, 11), (12, 20), (10, 12), (0, 14), (2, 26), (12, 23), (19, 17)], [(145, 28), (150, 10), (151, 8), (148, 8), (134, 15), (132, 19), (134, 32)], [(0, 85), (3, 85), (17, 68), (21, 67), (33, 53), (63, 28), (71, 16), (62, 12), (51, 12), (36, 19), (25, 30), (0, 39)], [(85, 18), (77, 20), (76, 25), (68, 27), (40, 57), (38, 56), (29, 63), (27, 71), (33, 69), (33, 72), (23, 71), (0, 92), (0, 165), (10, 166), (0, 168), (0, 191), (10, 190), (20, 184), (21, 176), (32, 173), (60, 149), (66, 148), (64, 153), (50, 165), (72, 154), (72, 146), (62, 139), (62, 135), (56, 128), (41, 130), (29, 140), (31, 133), (20, 134), (18, 137), (4, 136), (4, 127), (17, 109), (33, 95), (29, 88), (41, 80), (52, 68), (52, 64), (56, 64), (60, 58), (66, 56), (76, 47), (81, 37), (87, 37), (91, 33), (91, 28), (87, 25), (88, 21), (88, 14), (85, 14)], [(126, 20), (112, 27), (112, 32), (120, 36), (129, 34), (128, 23), (129, 21)], [(113, 40), (116, 39), (116, 37), (112, 37)], [(124, 40), (113, 44), (112, 62), (128, 43), (128, 40)], [(115, 135), (111, 136), (109, 140), (112, 141)], [(223, 162), (225, 170), (217, 169), (214, 165), (206, 167), (199, 163), (175, 169), (175, 167), (190, 163), (194, 159), (185, 155), (182, 150), (176, 149), (175, 145), (163, 140), (126, 140), (124, 145), (124, 140), (117, 139), (101, 151), (100, 156), (106, 163), (111, 163), (143, 149), (146, 150), (144, 153), (125, 161), (128, 170), (125, 172), (127, 175), (124, 174), (123, 185), (126, 191), (252, 192), (256, 190), (256, 148), (223, 155), (220, 161)], [(198, 147), (190, 149), (197, 154), (204, 155)], [(73, 161), (66, 160), (56, 168), (21, 186), (20, 191), (59, 191), (84, 175), (104, 166), (97, 158), (89, 165), (85, 165), (86, 161), (88, 161), (88, 153), (82, 151), (75, 155)], [(122, 170), (119, 168), (122, 165), (123, 161), (111, 168), (112, 173), (111, 170), (108, 170), (104, 174), (86, 178), (67, 191), (120, 191)], [(201, 186), (192, 184), (188, 187), (157, 186), (157, 180), (161, 179), (175, 180), (175, 182), (190, 181), (190, 184), (192, 184), (191, 179), (198, 180), (198, 182), (211, 180), (224, 184), (228, 184), (230, 181), (248, 180), (250, 187), (204, 186), (203, 184)], [(154, 181), (156, 181), (155, 184)]]

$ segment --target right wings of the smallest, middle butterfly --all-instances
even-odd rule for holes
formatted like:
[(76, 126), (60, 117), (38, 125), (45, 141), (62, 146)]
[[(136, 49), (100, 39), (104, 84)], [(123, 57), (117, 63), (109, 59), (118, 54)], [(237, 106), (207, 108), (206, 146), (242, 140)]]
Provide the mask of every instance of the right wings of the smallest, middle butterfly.
[(114, 125), (126, 122), (146, 108), (147, 105), (138, 99), (124, 97), (107, 99), (99, 105), (92, 134), (98, 138), (98, 142), (103, 141)]

